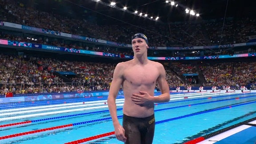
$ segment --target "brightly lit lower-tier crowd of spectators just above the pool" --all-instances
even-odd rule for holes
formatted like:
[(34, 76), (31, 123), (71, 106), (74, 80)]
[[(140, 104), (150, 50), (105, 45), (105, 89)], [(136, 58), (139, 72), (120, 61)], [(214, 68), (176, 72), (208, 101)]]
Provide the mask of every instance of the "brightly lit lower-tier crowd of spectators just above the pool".
[[(0, 55), (0, 94), (6, 92), (75, 92), (108, 90), (116, 64), (69, 61), (16, 55)], [(166, 79), (170, 88), (193, 86), (183, 74), (199, 73), (192, 64), (165, 64)], [(219, 63), (198, 65), (206, 82), (202, 86), (240, 86), (256, 83), (256, 62)], [(76, 76), (57, 76), (54, 72), (74, 72)], [(251, 89), (252, 89), (251, 88)]]

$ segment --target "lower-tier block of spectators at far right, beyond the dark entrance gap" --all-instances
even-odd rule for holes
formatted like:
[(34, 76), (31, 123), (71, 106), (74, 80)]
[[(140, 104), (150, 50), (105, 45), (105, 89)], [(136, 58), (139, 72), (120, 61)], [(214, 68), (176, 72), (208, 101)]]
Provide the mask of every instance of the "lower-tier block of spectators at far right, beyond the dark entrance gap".
[(205, 86), (226, 87), (234, 86), (239, 89), (241, 86), (256, 85), (256, 62), (232, 62), (207, 64), (200, 66), (206, 83)]

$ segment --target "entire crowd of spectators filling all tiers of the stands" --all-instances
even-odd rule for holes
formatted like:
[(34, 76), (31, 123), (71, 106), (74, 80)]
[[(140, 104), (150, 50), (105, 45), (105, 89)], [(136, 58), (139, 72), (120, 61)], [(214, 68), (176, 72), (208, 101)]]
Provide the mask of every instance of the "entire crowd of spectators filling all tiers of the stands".
[[(57, 14), (39, 11), (15, 0), (0, 1), (0, 21), (22, 24), (36, 28), (50, 29), (57, 32), (88, 36), (91, 38), (109, 40), (121, 44), (130, 44), (130, 37), (136, 32), (143, 32), (148, 36), (150, 46), (186, 47), (218, 44), (244, 43), (248, 36), (256, 35), (256, 20), (244, 18), (242, 20), (227, 19), (224, 27), (221, 20), (202, 21), (200, 23), (181, 22), (175, 24), (159, 24), (145, 26), (143, 29), (133, 25), (100, 26), (88, 20), (70, 18)], [(150, 31), (149, 31), (150, 30)], [(14, 32), (15, 33), (15, 32)], [(17, 32), (16, 32), (17, 33)], [(83, 44), (65, 43), (64, 38), (38, 36), (36, 43), (59, 47), (79, 48), (97, 52), (132, 55), (128, 48), (110, 48), (109, 46), (88, 47)], [(2, 31), (0, 38), (24, 42), (34, 42), (27, 39), (26, 34)], [(170, 56), (172, 52), (163, 52), (162, 56)], [(156, 55), (155, 52), (149, 52)], [(111, 83), (115, 64), (91, 63), (86, 61), (68, 61), (54, 58), (16, 55), (0, 55), (0, 94), (8, 91), (14, 93), (35, 92), (71, 92), (82, 90), (108, 90)], [(170, 87), (188, 86), (183, 74), (198, 73), (196, 66), (191, 64), (164, 65)], [(256, 79), (256, 63), (222, 63), (216, 65), (202, 65), (200, 70), (206, 82), (204, 86), (246, 85)], [(70, 83), (54, 74), (55, 71), (74, 72), (76, 77), (70, 78)], [(252, 84), (252, 88), (255, 85)]]

